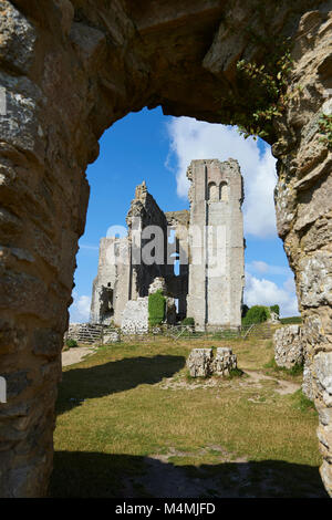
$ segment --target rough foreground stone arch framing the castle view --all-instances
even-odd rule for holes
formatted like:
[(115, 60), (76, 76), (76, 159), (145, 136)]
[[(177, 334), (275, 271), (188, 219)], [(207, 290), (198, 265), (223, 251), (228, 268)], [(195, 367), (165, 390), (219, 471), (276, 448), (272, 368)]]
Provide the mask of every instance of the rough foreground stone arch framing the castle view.
[(321, 475), (332, 495), (332, 176), (318, 123), (331, 114), (331, 1), (289, 8), (267, 0), (264, 21), (255, 0), (2, 4), (0, 306), (9, 398), (1, 407), (1, 496), (46, 492), (60, 352), (89, 200), (84, 171), (98, 138), (144, 106), (240, 123), (250, 106), (236, 65), (239, 56), (259, 65), (269, 59), (261, 34), (294, 43), (292, 96), (267, 141), (279, 159), (278, 232), (295, 274), (320, 412)]

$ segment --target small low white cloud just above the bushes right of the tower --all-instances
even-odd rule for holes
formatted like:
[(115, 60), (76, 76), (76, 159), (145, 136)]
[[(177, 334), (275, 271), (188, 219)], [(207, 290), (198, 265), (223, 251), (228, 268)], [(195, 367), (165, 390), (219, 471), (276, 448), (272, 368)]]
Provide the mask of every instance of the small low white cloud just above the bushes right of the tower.
[(282, 287), (277, 283), (258, 279), (246, 272), (245, 303), (252, 305), (274, 305), (280, 306), (281, 316), (292, 316), (299, 314), (295, 285), (292, 278), (287, 279)]

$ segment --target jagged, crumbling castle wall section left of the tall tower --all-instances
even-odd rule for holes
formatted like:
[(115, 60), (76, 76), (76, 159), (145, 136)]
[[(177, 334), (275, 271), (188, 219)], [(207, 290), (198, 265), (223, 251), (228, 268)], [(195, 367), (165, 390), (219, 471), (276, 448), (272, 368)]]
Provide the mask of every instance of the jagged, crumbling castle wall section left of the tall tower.
[[(92, 323), (108, 325), (113, 322), (120, 326), (125, 309), (135, 306), (128, 306), (128, 301), (147, 297), (156, 278), (170, 280), (173, 277), (173, 266), (167, 259), (168, 221), (147, 191), (145, 181), (136, 187), (126, 222), (127, 237), (101, 239), (98, 272), (92, 290)], [(153, 264), (146, 264), (142, 259), (142, 249), (151, 238), (145, 235), (148, 226), (158, 228), (162, 233), (162, 245)]]

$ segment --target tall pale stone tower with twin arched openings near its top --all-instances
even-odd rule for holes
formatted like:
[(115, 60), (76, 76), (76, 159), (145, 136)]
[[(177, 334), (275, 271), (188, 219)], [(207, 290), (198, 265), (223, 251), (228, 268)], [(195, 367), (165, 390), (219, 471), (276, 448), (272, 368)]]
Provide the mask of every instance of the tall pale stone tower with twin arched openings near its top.
[(191, 183), (187, 315), (200, 327), (239, 326), (245, 284), (240, 167), (234, 159), (193, 160), (187, 177)]

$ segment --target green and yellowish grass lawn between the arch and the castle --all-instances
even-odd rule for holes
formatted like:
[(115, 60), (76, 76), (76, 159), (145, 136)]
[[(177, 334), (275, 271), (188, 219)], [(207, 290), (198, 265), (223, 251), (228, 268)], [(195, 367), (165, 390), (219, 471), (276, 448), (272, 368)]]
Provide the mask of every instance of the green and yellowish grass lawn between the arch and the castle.
[[(193, 347), (232, 346), (241, 377), (190, 379)], [(63, 371), (51, 497), (325, 497), (317, 412), (271, 341), (103, 346)]]

